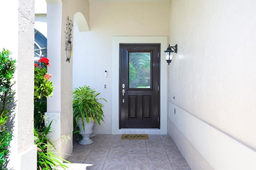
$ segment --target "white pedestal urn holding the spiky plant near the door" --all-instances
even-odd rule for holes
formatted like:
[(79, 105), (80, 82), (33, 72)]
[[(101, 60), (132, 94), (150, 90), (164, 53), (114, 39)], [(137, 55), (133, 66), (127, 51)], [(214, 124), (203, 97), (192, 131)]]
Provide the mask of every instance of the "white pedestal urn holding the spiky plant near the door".
[(90, 118), (89, 123), (87, 123), (86, 120), (85, 120), (84, 129), (83, 129), (82, 120), (81, 120), (81, 118), (78, 119), (78, 127), (79, 127), (79, 130), (80, 130), (79, 133), (83, 137), (82, 140), (78, 142), (80, 145), (89, 145), (89, 144), (93, 143), (93, 141), (89, 138), (90, 135), (92, 134), (93, 123), (94, 122), (91, 120), (91, 118)]

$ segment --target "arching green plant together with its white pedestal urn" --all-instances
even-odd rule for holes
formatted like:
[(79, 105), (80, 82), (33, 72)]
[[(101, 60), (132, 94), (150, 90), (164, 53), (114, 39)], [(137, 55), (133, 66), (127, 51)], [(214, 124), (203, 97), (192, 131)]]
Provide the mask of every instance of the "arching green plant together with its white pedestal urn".
[[(104, 113), (102, 107), (103, 104), (99, 100), (104, 98), (97, 98), (100, 93), (96, 93), (90, 86), (82, 86), (74, 88), (73, 90), (73, 117), (76, 126), (79, 127), (79, 134), (82, 135), (82, 140), (78, 143), (80, 145), (88, 145), (93, 143), (89, 138), (92, 134), (92, 126), (94, 122), (100, 125), (100, 121), (103, 121)], [(107, 102), (107, 101), (106, 101)]]

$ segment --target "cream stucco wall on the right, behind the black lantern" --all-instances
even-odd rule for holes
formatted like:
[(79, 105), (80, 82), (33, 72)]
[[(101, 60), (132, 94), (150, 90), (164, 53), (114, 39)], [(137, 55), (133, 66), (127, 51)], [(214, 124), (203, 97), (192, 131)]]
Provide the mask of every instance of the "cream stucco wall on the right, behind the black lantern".
[(170, 1), (170, 44), (178, 44), (169, 70), (170, 121), (214, 169), (256, 168), (255, 8), (254, 1)]

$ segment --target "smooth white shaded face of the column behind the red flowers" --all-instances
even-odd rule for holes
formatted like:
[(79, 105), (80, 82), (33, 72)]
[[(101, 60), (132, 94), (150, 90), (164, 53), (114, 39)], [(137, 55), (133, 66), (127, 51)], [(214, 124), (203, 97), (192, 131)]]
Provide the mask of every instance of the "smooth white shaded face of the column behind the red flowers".
[(47, 68), (48, 74), (52, 74), (50, 79), (54, 86), (53, 96), (47, 98), (47, 116), (52, 121), (52, 133), (50, 139), (60, 139), (60, 51), (61, 51), (61, 24), (62, 24), (62, 4), (47, 4), (47, 57), (50, 66)]

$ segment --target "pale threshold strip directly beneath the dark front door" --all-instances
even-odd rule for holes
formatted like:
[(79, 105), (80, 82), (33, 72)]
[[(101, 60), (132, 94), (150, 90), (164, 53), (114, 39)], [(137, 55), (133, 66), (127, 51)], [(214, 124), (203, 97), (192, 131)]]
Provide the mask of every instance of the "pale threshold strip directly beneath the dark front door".
[(119, 129), (119, 134), (151, 134), (160, 135), (160, 129)]

